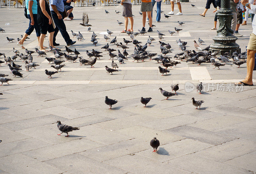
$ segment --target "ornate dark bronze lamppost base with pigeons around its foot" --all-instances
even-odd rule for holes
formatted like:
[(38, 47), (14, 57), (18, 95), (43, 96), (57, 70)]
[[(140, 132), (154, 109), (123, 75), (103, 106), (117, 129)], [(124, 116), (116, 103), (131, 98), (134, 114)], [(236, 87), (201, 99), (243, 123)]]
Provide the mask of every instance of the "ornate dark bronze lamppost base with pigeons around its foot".
[(237, 37), (233, 35), (234, 31), (231, 29), (231, 19), (233, 13), (230, 8), (230, 0), (221, 0), (220, 9), (218, 10), (217, 18), (219, 19), (219, 30), (217, 35), (212, 38), (214, 43), (210, 45), (210, 51), (219, 52), (224, 54), (229, 52), (232, 55), (233, 52), (241, 53), (241, 48), (236, 43)]

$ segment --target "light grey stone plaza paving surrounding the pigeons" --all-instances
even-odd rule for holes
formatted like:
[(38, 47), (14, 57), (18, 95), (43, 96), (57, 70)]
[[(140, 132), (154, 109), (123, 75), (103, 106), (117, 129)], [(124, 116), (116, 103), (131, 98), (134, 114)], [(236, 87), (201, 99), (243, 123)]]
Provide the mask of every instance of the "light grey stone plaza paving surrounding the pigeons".
[[(205, 41), (201, 48), (209, 46), (216, 35), (213, 27), (214, 13), (211, 8), (206, 17), (200, 17), (206, 1), (181, 3), (182, 16), (172, 15), (161, 23), (156, 23), (153, 11), (153, 33), (156, 41), (148, 46), (150, 53), (160, 54), (156, 30), (164, 33), (163, 41), (170, 43), (173, 57), (179, 53), (175, 40), (187, 41), (187, 49), (194, 49), (193, 40), (200, 37)], [(110, 14), (106, 15), (104, 10)], [(156, 7), (154, 7), (154, 10)], [(256, 172), (256, 87), (235, 88), (231, 83), (246, 76), (246, 64), (240, 68), (231, 63), (213, 69), (211, 63), (201, 66), (185, 61), (169, 68), (167, 76), (161, 76), (156, 61), (128, 61), (119, 64), (119, 72), (107, 74), (105, 66), (111, 65), (109, 55), (100, 47), (106, 42), (101, 32), (107, 29), (117, 36), (131, 40), (126, 33), (120, 33), (124, 25), (122, 6), (75, 7), (74, 20), (65, 21), (67, 31), (80, 31), (84, 40), (77, 41), (70, 48), (77, 49), (83, 58), (88, 58), (86, 50), (103, 51), (103, 57), (97, 60), (95, 68), (79, 66), (79, 62), (64, 62), (61, 72), (47, 78), (44, 70), (54, 70), (45, 57), (33, 55), (37, 69), (26, 71), (22, 65), (23, 78), (13, 77), (6, 64), (0, 67), (0, 73), (9, 74), (10, 85), (0, 86), (0, 173), (255, 173)], [(170, 11), (170, 4), (163, 4), (165, 14)], [(12, 48), (25, 53), (16, 43), (17, 38), (28, 27), (24, 9), (1, 8), (0, 53), (12, 56)], [(91, 32), (79, 25), (83, 12), (89, 16), (89, 24), (99, 38), (99, 44), (92, 45)], [(132, 7), (134, 31), (141, 29), (140, 5)], [(177, 6), (175, 4), (175, 10)], [(251, 20), (249, 18), (249, 20)], [(178, 26), (177, 21), (184, 22)], [(10, 23), (10, 25), (5, 25)], [(251, 22), (241, 25), (239, 33), (244, 37), (236, 43), (245, 51), (245, 46), (252, 33)], [(128, 25), (129, 26), (129, 25)], [(168, 30), (182, 28), (178, 34), (170, 36)], [(148, 24), (146, 24), (148, 29)], [(137, 36), (144, 45), (149, 33)], [(6, 37), (14, 38), (8, 43)], [(24, 47), (34, 50), (37, 46), (36, 34), (24, 42)], [(73, 38), (72, 38), (73, 39)], [(74, 38), (73, 40), (76, 40)], [(57, 43), (65, 51), (65, 42), (59, 33)], [(142, 45), (141, 44), (141, 45)], [(48, 39), (45, 40), (48, 46)], [(127, 52), (133, 54), (133, 44), (128, 44)], [(117, 48), (110, 44), (110, 48)], [(117, 53), (117, 52), (114, 52)], [(52, 57), (47, 53), (47, 57)], [(3, 60), (1, 56), (0, 60)], [(171, 59), (173, 60), (173, 58)], [(114, 59), (117, 62), (116, 59)], [(254, 73), (255, 75), (255, 73)], [(198, 94), (192, 84), (202, 82), (204, 90)], [(256, 83), (254, 76), (254, 83)], [(165, 100), (158, 88), (172, 91), (171, 85), (179, 83), (177, 96)], [(221, 84), (220, 84), (221, 83)], [(104, 103), (105, 96), (118, 100), (112, 110)], [(146, 108), (140, 103), (140, 97), (151, 97)], [(191, 98), (204, 100), (200, 110), (192, 105)], [(79, 127), (70, 133), (70, 137), (58, 136), (60, 131), (55, 123)], [(66, 135), (66, 134), (65, 134)], [(153, 153), (149, 141), (156, 137), (160, 141), (157, 153)]]

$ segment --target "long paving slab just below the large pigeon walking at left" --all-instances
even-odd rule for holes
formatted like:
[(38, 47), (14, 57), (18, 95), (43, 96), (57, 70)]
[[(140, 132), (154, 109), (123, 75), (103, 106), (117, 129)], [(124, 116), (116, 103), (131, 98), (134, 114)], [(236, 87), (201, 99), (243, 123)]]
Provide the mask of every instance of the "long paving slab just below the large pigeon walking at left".
[[(68, 137), (65, 137), (65, 138), (68, 139)], [(39, 161), (46, 161), (46, 160), (58, 158), (61, 156), (66, 156), (66, 155), (74, 154), (77, 152), (81, 152), (84, 150), (97, 148), (100, 146), (103, 146), (103, 144), (88, 140), (86, 138), (80, 138), (78, 140), (67, 141), (67, 142), (47, 146), (45, 148), (30, 150), (27, 152), (23, 152), (22, 154), (26, 156), (30, 156), (32, 158), (36, 158)]]

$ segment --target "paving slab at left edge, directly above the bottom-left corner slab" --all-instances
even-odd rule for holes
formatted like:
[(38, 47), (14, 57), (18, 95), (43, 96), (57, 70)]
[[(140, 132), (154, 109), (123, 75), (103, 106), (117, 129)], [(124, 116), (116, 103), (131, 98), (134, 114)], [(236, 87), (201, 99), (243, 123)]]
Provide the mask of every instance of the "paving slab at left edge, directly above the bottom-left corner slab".
[(21, 152), (26, 152), (29, 150), (38, 149), (49, 145), (50, 144), (46, 142), (39, 141), (34, 138), (9, 142), (0, 145), (0, 148), (2, 149), (0, 152), (0, 156), (3, 157)]

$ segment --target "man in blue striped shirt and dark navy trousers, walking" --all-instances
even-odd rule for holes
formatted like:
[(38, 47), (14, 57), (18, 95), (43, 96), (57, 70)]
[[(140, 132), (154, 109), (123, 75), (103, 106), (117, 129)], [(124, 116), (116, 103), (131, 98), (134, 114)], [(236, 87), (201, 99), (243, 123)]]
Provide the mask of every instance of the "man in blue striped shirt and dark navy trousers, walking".
[(55, 31), (53, 34), (53, 45), (58, 46), (60, 44), (57, 44), (56, 36), (58, 32), (60, 31), (62, 37), (64, 38), (65, 42), (67, 43), (67, 46), (73, 45), (76, 43), (76, 41), (72, 41), (68, 35), (68, 32), (66, 30), (66, 25), (63, 21), (63, 12), (65, 11), (63, 0), (50, 0), (50, 10), (52, 13), (53, 21), (56, 25)]

